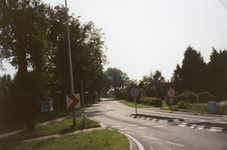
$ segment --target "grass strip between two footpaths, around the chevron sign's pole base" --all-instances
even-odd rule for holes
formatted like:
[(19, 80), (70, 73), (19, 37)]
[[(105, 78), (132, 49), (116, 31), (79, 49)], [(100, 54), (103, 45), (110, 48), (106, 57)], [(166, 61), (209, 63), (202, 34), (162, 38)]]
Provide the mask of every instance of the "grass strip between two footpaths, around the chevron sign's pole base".
[(26, 130), (23, 130), (14, 135), (1, 138), (0, 140), (3, 141), (4, 143), (8, 143), (8, 142), (21, 141), (21, 140), (42, 137), (42, 136), (47, 136), (47, 135), (52, 135), (57, 133), (75, 131), (75, 130), (80, 130), (84, 128), (100, 127), (100, 124), (98, 122), (90, 120), (88, 118), (86, 118), (85, 122), (86, 122), (86, 127), (84, 127), (83, 125), (83, 116), (80, 115), (76, 117), (76, 124), (77, 124), (76, 127), (72, 126), (73, 119), (68, 118), (68, 119), (53, 122), (47, 125), (39, 125), (36, 127), (35, 131), (31, 133), (28, 133), (26, 132)]

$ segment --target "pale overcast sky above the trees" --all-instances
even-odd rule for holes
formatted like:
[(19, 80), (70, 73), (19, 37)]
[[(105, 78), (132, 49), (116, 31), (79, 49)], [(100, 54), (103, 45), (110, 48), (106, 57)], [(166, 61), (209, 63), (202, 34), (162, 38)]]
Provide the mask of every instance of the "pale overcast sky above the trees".
[[(43, 0), (51, 6), (64, 0)], [(191, 45), (206, 63), (212, 47), (227, 50), (226, 0), (68, 0), (69, 14), (93, 21), (105, 33), (108, 67), (130, 79), (161, 71), (170, 80)], [(15, 70), (8, 64), (6, 72)]]

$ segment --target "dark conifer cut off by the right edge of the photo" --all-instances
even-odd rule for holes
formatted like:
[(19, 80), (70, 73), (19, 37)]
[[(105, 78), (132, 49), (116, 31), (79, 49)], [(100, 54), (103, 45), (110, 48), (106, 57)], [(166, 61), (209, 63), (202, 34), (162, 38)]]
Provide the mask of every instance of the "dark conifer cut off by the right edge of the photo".
[(212, 95), (227, 96), (227, 51), (217, 52), (213, 48), (207, 68), (208, 91)]

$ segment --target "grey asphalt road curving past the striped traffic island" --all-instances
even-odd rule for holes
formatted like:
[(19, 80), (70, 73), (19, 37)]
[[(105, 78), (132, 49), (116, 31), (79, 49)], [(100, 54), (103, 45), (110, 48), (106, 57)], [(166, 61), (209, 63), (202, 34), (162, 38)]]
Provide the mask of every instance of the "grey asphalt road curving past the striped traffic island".
[[(198, 116), (194, 114), (161, 112), (155, 108), (140, 108), (140, 114), (189, 119), (189, 122), (227, 122), (227, 117)], [(109, 128), (117, 129), (135, 138), (145, 150), (227, 150), (227, 133), (180, 127), (182, 123), (159, 123), (127, 117), (135, 108), (118, 101), (103, 99), (86, 108), (85, 114)]]

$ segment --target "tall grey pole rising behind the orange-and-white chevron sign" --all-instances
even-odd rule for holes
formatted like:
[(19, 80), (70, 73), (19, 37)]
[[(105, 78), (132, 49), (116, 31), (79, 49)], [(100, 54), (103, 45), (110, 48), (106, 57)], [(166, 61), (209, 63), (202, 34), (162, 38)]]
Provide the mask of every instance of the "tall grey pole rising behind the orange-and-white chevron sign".
[[(66, 12), (67, 34), (68, 34), (69, 70), (70, 70), (70, 80), (71, 80), (71, 93), (72, 93), (72, 95), (74, 95), (73, 69), (72, 69), (71, 44), (70, 44), (70, 35), (69, 35), (67, 0), (65, 0), (65, 12)], [(76, 126), (76, 119), (75, 119), (76, 115), (75, 115), (75, 109), (74, 108), (73, 108), (72, 114), (73, 114), (73, 126)]]

